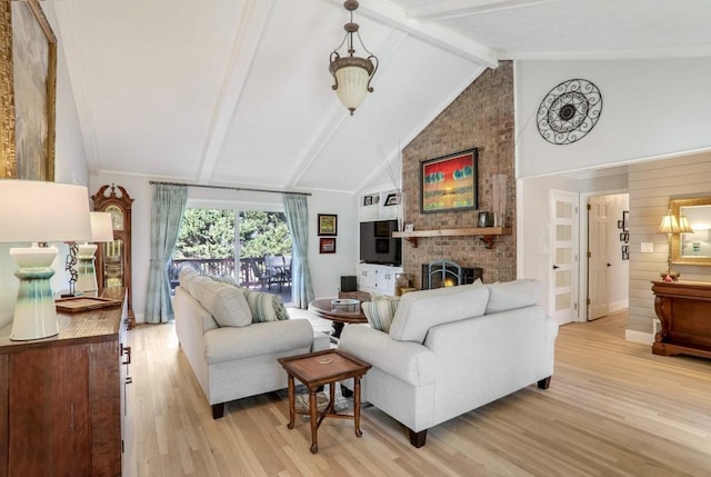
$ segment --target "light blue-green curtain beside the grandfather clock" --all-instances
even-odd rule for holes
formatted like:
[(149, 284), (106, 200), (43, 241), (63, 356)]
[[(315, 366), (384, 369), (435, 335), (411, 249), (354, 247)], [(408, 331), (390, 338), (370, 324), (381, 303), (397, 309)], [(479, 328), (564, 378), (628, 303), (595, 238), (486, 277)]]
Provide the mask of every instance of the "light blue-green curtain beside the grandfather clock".
[(146, 322), (158, 324), (168, 322), (174, 317), (170, 300), (168, 264), (178, 241), (178, 231), (188, 201), (188, 187), (162, 183), (153, 187), (151, 266), (148, 274)]

